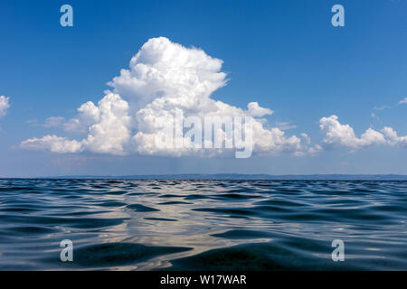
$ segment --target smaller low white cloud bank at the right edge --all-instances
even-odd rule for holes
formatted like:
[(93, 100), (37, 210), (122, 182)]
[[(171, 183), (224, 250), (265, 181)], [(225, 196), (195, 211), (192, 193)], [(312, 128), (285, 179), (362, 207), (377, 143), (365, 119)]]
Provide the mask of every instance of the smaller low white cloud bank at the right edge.
[(407, 146), (407, 136), (398, 136), (391, 127), (384, 127), (381, 132), (368, 128), (363, 135), (357, 137), (349, 125), (342, 125), (338, 117), (322, 117), (319, 120), (321, 130), (326, 134), (325, 147), (347, 147), (357, 150), (371, 145), (402, 145)]

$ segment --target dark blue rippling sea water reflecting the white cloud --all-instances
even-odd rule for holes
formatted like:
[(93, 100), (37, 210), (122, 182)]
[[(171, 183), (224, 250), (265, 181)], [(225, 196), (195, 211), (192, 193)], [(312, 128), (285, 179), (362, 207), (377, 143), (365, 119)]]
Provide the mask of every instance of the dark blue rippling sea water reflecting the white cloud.
[(0, 269), (407, 270), (407, 182), (0, 180)]

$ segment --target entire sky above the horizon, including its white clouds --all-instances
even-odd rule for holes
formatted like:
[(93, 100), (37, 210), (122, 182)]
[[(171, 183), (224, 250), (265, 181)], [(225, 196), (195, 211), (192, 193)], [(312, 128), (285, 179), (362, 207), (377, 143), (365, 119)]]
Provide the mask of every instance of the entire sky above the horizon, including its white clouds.
[[(405, 0), (2, 1), (0, 177), (407, 174), (406, 16)], [(251, 157), (156, 147), (180, 108), (253, 117)]]

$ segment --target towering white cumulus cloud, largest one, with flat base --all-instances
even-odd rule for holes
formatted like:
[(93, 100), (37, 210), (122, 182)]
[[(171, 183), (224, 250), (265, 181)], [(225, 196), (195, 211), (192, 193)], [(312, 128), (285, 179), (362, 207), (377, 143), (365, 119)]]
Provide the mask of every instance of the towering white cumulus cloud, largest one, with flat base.
[[(184, 119), (196, 117), (202, 121), (204, 117), (254, 117), (251, 129), (254, 152), (302, 154), (309, 149), (308, 139), (303, 144), (295, 135), (288, 137), (277, 127), (263, 125), (265, 120), (259, 117), (271, 115), (269, 108), (251, 102), (247, 109), (241, 109), (211, 98), (216, 89), (226, 85), (226, 74), (221, 68), (221, 60), (200, 49), (185, 48), (165, 37), (150, 39), (131, 59), (129, 69), (121, 70), (109, 82), (111, 91), (97, 105), (83, 104), (78, 116), (63, 125), (67, 132), (86, 136), (69, 140), (46, 135), (26, 140), (21, 146), (55, 153), (222, 154), (223, 150), (156, 145), (163, 127), (174, 121), (176, 110), (182, 110)], [(223, 136), (227, 141), (228, 136)], [(178, 137), (185, 144), (191, 143), (191, 138)], [(208, 141), (204, 139), (204, 143)], [(237, 143), (236, 148), (241, 145)]]

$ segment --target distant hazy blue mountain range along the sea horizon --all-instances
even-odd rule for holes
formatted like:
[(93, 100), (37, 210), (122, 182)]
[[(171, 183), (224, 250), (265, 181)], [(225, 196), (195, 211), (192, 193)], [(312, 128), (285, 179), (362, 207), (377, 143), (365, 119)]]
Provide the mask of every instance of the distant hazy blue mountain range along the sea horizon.
[(407, 175), (401, 174), (240, 174), (240, 173), (186, 173), (186, 174), (146, 174), (146, 175), (62, 175), (41, 179), (156, 179), (156, 180), (392, 180), (407, 181)]

